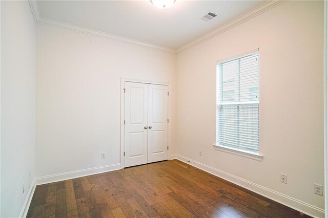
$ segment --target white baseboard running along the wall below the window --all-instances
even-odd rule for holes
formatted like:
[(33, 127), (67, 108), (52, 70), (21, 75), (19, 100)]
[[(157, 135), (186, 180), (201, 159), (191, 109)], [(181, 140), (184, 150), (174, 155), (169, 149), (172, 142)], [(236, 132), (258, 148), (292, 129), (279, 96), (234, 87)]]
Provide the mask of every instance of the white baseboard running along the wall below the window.
[(283, 204), (285, 206), (288, 206), (290, 208), (293, 208), (295, 210), (298, 210), (300, 212), (303, 212), (305, 214), (308, 214), (313, 217), (325, 217), (324, 216), (324, 209), (318, 208), (316, 206), (313, 206), (311, 204), (302, 202), (300, 200), (297, 200), (295, 198), (289, 197), (288, 195), (285, 195), (283, 193), (277, 192), (275, 190), (272, 190), (267, 187), (263, 187), (261, 185), (258, 185), (256, 183), (250, 182), (248, 180), (242, 179), (240, 177), (236, 177), (228, 172), (224, 172), (222, 170), (216, 169), (212, 166), (200, 163), (198, 161), (192, 160), (190, 158), (184, 157), (179, 154), (172, 154), (171, 155), (172, 159), (177, 159), (182, 162), (190, 164), (194, 167), (197, 167), (201, 170), (204, 170), (206, 172), (211, 173), (214, 176), (217, 176), (219, 178), (222, 178), (224, 180), (227, 180), (229, 182), (232, 182), (236, 185), (239, 185), (243, 188), (249, 189), (251, 191), (254, 191), (260, 195), (263, 195), (264, 197), (267, 197), (273, 201), (276, 201), (280, 204)]

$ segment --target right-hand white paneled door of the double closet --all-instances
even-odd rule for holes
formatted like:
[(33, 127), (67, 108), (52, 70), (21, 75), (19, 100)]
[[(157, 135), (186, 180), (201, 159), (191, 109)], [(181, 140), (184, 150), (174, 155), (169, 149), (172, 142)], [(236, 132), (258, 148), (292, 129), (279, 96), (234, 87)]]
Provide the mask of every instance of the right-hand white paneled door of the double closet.
[(168, 86), (148, 86), (148, 163), (168, 159)]

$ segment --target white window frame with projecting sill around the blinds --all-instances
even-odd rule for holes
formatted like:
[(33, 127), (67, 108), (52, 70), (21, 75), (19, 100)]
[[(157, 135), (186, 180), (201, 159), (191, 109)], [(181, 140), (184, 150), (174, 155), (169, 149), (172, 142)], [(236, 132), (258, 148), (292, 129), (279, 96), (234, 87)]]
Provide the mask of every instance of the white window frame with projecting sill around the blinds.
[[(252, 50), (252, 51), (249, 51), (249, 52), (245, 52), (245, 53), (242, 53), (242, 54), (239, 54), (239, 55), (235, 55), (233, 57), (221, 59), (221, 60), (217, 61), (217, 63), (216, 63), (216, 80), (215, 80), (216, 81), (216, 85), (215, 85), (215, 87), (216, 87), (216, 104), (215, 104), (215, 106), (216, 106), (216, 113), (215, 113), (216, 114), (216, 119), (215, 119), (216, 120), (216, 140), (215, 140), (215, 144), (213, 144), (213, 146), (214, 146), (215, 150), (227, 152), (229, 154), (234, 154), (234, 155), (238, 155), (238, 156), (241, 156), (241, 157), (245, 157), (245, 158), (249, 158), (249, 159), (253, 159), (253, 160), (257, 160), (257, 161), (262, 161), (263, 156), (260, 155), (260, 146), (259, 146), (258, 152), (252, 152), (252, 151), (240, 149), (240, 148), (238, 148), (238, 146), (233, 147), (233, 146), (227, 146), (227, 145), (220, 144), (218, 142), (218, 138), (217, 138), (217, 131), (218, 131), (218, 125), (217, 125), (218, 110), (217, 110), (217, 107), (219, 105), (218, 104), (218, 94), (219, 94), (218, 85), (219, 85), (219, 79), (220, 79), (218, 67), (222, 63), (232, 61), (232, 60), (236, 60), (236, 59), (240, 59), (240, 58), (243, 58), (245, 56), (248, 56), (248, 55), (251, 55), (251, 54), (254, 54), (254, 53), (258, 53), (258, 55), (260, 55), (259, 49), (255, 49), (255, 50)], [(259, 64), (259, 75), (258, 76), (260, 77), (260, 58), (258, 60), (258, 64)], [(258, 90), (260, 90), (259, 86), (258, 86)], [(241, 104), (257, 103), (259, 105), (259, 102), (260, 102), (260, 99), (258, 99), (257, 101), (247, 101), (247, 102), (243, 101), (243, 102), (241, 102)], [(237, 104), (236, 104), (236, 101), (233, 101), (233, 102), (228, 101), (228, 102), (220, 102), (220, 105), (237, 105)], [(259, 122), (259, 124), (260, 124), (260, 122)], [(259, 137), (260, 137), (260, 133), (259, 133)]]

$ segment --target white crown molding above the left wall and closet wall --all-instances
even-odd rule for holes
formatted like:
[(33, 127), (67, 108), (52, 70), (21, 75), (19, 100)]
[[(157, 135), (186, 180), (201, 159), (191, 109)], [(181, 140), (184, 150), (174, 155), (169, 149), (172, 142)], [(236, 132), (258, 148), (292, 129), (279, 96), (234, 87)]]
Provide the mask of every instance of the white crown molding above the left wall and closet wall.
[(112, 41), (126, 43), (129, 45), (134, 45), (134, 46), (139, 46), (139, 47), (144, 47), (144, 48), (149, 48), (149, 49), (155, 49), (155, 50), (165, 51), (165, 52), (169, 52), (169, 53), (175, 53), (175, 49), (171, 49), (168, 47), (157, 46), (157, 45), (153, 45), (151, 43), (138, 41), (138, 40), (127, 38), (127, 37), (109, 34), (106, 32), (92, 30), (89, 28), (80, 27), (77, 25), (72, 25), (72, 24), (61, 22), (61, 21), (42, 17), (42, 16), (40, 16), (40, 11), (39, 11), (37, 1), (29, 0), (29, 4), (30, 4), (30, 8), (32, 10), (32, 14), (33, 14), (34, 21), (36, 24), (46, 25), (46, 26), (55, 27), (55, 28), (64, 29), (64, 30), (69, 30), (69, 31), (77, 32), (77, 33), (83, 33), (83, 34), (87, 34), (87, 35), (91, 35), (91, 36), (109, 39)]

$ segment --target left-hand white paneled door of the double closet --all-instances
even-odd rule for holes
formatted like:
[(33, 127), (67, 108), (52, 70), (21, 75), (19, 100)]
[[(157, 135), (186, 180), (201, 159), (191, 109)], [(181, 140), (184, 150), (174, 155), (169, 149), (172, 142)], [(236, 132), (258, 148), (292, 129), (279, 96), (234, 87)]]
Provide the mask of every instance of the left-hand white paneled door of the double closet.
[(125, 167), (148, 162), (148, 84), (125, 82)]

